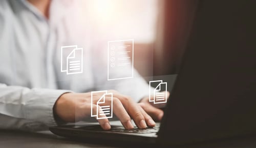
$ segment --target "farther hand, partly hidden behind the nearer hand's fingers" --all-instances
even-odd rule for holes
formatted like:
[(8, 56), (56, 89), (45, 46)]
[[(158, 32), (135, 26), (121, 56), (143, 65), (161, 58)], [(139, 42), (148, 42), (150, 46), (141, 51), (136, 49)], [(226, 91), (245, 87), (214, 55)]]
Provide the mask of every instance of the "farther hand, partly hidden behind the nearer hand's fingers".
[[(170, 93), (167, 92), (167, 98), (169, 98)], [(154, 96), (152, 96), (153, 98)], [(165, 106), (166, 103), (154, 104), (153, 102), (149, 102), (148, 97), (141, 99), (139, 105), (153, 117), (155, 121), (161, 121), (163, 117), (163, 110), (159, 109)]]

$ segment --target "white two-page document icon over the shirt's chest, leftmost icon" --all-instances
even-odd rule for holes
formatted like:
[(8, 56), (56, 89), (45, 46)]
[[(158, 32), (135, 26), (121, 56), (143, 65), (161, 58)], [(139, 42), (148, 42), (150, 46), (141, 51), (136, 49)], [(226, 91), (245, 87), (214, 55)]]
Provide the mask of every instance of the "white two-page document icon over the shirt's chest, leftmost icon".
[(60, 71), (69, 74), (82, 73), (83, 49), (77, 45), (61, 47)]

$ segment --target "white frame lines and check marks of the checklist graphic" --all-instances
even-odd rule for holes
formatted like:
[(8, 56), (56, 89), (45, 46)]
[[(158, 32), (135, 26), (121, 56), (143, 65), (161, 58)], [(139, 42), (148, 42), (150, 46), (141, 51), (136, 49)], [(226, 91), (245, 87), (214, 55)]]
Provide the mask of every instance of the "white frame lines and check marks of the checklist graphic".
[[(115, 57), (115, 49), (116, 47), (114, 45), (111, 45), (110, 47), (110, 44), (111, 43), (114, 43), (114, 42), (125, 42), (125, 41), (132, 41), (132, 57)], [(128, 48), (130, 47), (131, 45), (123, 45), (123, 46), (119, 46), (118, 49), (125, 49), (125, 48)], [(111, 50), (111, 52), (110, 52)], [(131, 52), (131, 51), (122, 51), (118, 54), (126, 54), (127, 52)], [(111, 57), (110, 57), (111, 56)], [(132, 60), (131, 60), (132, 58)], [(130, 60), (130, 62), (126, 62), (126, 63), (119, 63), (119, 64), (115, 64), (115, 61), (126, 61), (126, 60)], [(111, 64), (110, 64), (111, 62)], [(110, 67), (111, 68), (115, 68), (117, 66), (122, 66), (122, 67), (125, 67), (125, 66), (132, 66), (132, 73), (131, 73), (131, 76), (128, 76), (128, 77), (122, 77), (122, 78), (110, 78)], [(119, 79), (127, 79), (127, 78), (133, 78), (133, 72), (134, 72), (134, 39), (130, 39), (130, 40), (118, 40), (118, 41), (109, 41), (108, 42), (108, 81), (109, 80), (119, 80)]]

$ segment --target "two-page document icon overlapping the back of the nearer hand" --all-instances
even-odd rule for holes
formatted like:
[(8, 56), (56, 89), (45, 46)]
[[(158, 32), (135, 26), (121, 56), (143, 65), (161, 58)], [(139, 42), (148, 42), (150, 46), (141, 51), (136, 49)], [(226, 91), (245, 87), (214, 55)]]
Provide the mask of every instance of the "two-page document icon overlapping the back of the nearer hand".
[[(100, 98), (97, 98), (100, 96)], [(111, 99), (111, 103), (107, 103), (106, 98)], [(97, 110), (93, 111), (93, 102), (97, 99)], [(91, 92), (91, 117), (96, 116), (98, 119), (107, 119), (113, 117), (113, 93), (108, 91)]]

